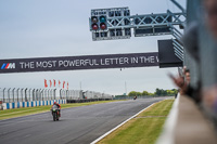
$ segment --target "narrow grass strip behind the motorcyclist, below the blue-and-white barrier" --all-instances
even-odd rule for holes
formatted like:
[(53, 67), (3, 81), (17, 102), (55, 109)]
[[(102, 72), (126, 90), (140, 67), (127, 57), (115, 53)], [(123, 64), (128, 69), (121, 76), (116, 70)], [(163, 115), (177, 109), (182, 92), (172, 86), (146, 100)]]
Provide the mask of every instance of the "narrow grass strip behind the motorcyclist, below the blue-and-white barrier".
[[(114, 102), (114, 101), (95, 101), (95, 102), (89, 102), (89, 103), (61, 104), (61, 108), (64, 109), (64, 108), (69, 108), (69, 107), (102, 104), (102, 103), (108, 103), (108, 102)], [(49, 112), (50, 108), (51, 106), (47, 105), (47, 106), (24, 107), (24, 108), (0, 110), (0, 120)]]

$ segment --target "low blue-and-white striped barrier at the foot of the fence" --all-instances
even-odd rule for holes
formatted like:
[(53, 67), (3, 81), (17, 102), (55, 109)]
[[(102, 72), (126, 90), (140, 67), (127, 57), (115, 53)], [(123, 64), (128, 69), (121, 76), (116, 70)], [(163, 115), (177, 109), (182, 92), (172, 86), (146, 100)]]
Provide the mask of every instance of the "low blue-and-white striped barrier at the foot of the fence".
[(21, 107), (52, 105), (54, 102), (58, 102), (59, 104), (66, 104), (66, 100), (51, 100), (51, 101), (3, 103), (2, 106), (3, 106), (3, 109), (13, 109), (13, 108), (21, 108)]

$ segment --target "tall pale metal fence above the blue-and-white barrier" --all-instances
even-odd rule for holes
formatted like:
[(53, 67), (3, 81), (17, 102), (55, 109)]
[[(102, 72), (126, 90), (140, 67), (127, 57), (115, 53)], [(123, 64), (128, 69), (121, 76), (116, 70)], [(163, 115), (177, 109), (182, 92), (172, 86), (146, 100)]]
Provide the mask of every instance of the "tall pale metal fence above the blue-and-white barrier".
[(110, 94), (82, 90), (0, 88), (0, 101), (3, 103), (111, 97)]

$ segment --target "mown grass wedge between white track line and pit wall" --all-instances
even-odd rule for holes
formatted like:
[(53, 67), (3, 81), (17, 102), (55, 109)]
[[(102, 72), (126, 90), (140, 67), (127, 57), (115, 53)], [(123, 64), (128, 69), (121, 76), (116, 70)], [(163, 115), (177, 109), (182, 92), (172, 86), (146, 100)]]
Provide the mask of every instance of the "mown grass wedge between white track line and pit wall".
[(174, 100), (158, 102), (104, 138), (98, 144), (154, 144)]

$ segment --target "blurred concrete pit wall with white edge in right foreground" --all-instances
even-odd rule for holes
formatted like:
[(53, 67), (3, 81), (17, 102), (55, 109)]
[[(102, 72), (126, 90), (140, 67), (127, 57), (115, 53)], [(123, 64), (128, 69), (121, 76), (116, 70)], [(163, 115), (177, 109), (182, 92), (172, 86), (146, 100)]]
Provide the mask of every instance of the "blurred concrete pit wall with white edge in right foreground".
[(156, 144), (217, 144), (210, 120), (187, 95), (179, 95)]

